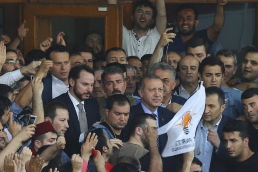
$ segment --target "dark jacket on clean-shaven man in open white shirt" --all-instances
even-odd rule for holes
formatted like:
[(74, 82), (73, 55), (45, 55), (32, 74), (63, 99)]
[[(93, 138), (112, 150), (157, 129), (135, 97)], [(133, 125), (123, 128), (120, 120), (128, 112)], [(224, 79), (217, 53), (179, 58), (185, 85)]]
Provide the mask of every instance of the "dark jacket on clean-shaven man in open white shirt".
[(48, 74), (43, 80), (42, 101), (43, 105), (52, 100), (52, 75)]

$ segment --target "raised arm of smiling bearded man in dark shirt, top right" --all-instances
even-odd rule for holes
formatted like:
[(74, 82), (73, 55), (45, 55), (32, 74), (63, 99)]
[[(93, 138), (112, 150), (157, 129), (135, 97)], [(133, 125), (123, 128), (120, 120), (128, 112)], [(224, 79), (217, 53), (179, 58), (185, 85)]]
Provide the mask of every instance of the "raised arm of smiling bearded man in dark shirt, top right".
[(224, 5), (228, 0), (217, 0), (217, 8), (216, 13), (214, 17), (214, 23), (213, 25), (208, 28), (207, 34), (210, 41), (216, 41), (216, 39), (219, 37), (219, 33), (224, 25)]

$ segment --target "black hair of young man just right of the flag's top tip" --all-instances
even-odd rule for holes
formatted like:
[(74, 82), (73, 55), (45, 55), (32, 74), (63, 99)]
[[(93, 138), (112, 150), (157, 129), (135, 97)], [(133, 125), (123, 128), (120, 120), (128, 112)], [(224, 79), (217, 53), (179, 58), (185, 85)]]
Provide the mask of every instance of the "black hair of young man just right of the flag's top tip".
[(202, 72), (203, 72), (205, 66), (220, 66), (222, 73), (223, 74), (225, 73), (225, 67), (224, 67), (223, 62), (220, 59), (215, 58), (213, 56), (207, 57), (202, 60), (202, 62), (199, 65), (199, 69), (198, 69), (200, 75), (202, 75)]

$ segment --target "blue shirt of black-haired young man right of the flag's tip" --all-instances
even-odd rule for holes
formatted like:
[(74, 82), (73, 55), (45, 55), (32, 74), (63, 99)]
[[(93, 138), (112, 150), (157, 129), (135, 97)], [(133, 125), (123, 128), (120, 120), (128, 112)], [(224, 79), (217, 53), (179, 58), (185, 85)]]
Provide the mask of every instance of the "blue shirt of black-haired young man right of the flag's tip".
[(225, 94), (225, 110), (223, 115), (228, 116), (229, 118), (237, 118), (244, 114), (242, 103), (241, 103), (241, 94), (242, 92), (236, 88), (226, 88), (224, 86), (220, 87)]

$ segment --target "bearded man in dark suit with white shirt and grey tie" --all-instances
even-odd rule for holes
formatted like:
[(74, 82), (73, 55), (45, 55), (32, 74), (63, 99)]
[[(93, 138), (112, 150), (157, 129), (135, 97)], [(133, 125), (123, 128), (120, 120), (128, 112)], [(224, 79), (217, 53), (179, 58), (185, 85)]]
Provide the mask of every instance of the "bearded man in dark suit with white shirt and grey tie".
[(85, 132), (100, 120), (98, 103), (89, 99), (94, 85), (94, 71), (85, 64), (71, 68), (69, 73), (69, 91), (56, 97), (67, 105), (69, 128), (65, 133), (66, 148), (69, 157), (80, 153)]

